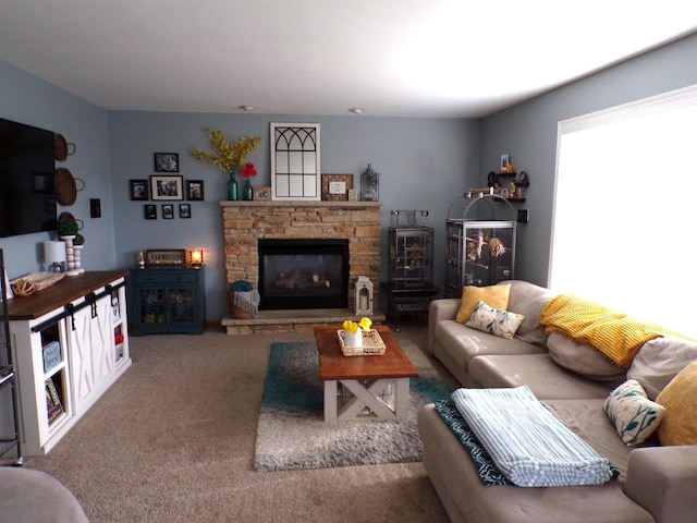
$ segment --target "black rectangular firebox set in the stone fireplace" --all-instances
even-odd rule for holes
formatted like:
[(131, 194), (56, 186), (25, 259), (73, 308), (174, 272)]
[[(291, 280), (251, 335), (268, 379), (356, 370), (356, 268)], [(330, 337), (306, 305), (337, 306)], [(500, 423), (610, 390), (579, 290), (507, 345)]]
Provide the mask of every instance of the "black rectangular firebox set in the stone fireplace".
[(259, 240), (259, 308), (346, 308), (348, 240)]

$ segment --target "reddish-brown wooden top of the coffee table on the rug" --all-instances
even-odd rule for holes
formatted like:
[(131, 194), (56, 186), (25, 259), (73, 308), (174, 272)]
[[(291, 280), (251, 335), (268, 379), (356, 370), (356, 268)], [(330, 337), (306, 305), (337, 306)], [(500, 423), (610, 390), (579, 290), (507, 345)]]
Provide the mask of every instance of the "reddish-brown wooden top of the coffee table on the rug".
[(319, 352), (319, 374), (322, 380), (415, 378), (418, 376), (418, 369), (404, 354), (388, 326), (372, 327), (378, 331), (386, 346), (384, 354), (379, 356), (344, 356), (337, 335), (341, 328), (340, 325), (315, 327)]

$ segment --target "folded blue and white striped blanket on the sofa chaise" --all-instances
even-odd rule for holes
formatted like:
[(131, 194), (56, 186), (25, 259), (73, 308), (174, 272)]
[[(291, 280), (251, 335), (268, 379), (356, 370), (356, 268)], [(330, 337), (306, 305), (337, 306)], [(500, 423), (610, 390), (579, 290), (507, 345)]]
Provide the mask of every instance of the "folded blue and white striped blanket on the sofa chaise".
[(499, 470), (519, 487), (602, 485), (616, 470), (527, 387), (457, 389), (455, 406)]

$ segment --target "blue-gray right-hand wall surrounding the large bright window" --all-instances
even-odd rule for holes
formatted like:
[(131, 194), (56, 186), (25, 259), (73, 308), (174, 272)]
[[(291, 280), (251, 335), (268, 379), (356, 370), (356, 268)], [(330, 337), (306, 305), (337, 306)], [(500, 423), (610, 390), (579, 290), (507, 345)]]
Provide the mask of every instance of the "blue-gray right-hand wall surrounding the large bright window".
[[(482, 121), (481, 179), (497, 168), (502, 154), (511, 155), (516, 170), (524, 170), (530, 177), (527, 202), (516, 204), (530, 209), (530, 222), (518, 227), (516, 278), (540, 284), (548, 281), (558, 122), (693, 85), (697, 83), (695, 57), (697, 35)], [(629, 183), (629, 167), (626, 175)], [(668, 180), (674, 175), (657, 173), (657, 186), (664, 184), (667, 187), (658, 192), (657, 197), (670, 197)], [(602, 209), (594, 208), (592, 202), (588, 202), (588, 211), (602, 212)], [(615, 230), (614, 234), (621, 236), (621, 231)]]

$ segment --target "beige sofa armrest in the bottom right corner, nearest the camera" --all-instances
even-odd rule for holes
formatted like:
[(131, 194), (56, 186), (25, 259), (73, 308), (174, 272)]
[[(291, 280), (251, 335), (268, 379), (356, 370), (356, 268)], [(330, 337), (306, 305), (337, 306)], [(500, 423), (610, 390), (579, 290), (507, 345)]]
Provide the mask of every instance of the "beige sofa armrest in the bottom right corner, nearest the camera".
[(697, 445), (633, 450), (624, 491), (658, 523), (694, 522), (697, 514)]

